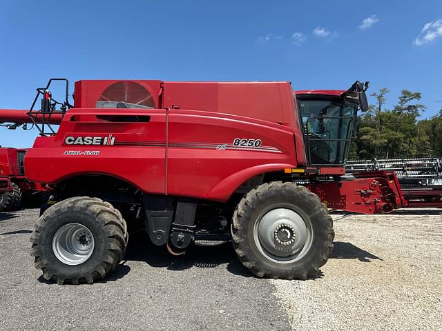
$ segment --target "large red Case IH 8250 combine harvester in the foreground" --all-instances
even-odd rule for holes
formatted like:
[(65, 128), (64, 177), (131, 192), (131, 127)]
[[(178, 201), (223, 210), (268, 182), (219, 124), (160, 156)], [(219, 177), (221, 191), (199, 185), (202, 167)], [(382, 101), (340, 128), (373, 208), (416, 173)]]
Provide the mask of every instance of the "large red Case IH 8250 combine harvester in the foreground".
[[(66, 83), (64, 101), (52, 99), (54, 81)], [(77, 81), (71, 106), (68, 81), (51, 79), (30, 110), (0, 110), (41, 134), (24, 158), (28, 179), (52, 192), (31, 237), (36, 267), (60, 284), (105, 277), (127, 221), (174, 255), (231, 239), (258, 277), (314, 276), (333, 248), (327, 205), (406, 204), (393, 172), (343, 178), (367, 88), (294, 102), (287, 82)]]

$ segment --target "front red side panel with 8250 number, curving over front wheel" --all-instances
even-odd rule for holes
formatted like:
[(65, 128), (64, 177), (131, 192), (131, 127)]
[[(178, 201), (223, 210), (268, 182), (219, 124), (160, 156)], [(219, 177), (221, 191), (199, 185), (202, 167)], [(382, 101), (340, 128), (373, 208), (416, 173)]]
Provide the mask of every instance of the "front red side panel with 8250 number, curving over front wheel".
[[(237, 138), (260, 139), (262, 145), (233, 146)], [(167, 156), (168, 194), (221, 201), (256, 174), (296, 166), (290, 128), (191, 110), (169, 110)]]

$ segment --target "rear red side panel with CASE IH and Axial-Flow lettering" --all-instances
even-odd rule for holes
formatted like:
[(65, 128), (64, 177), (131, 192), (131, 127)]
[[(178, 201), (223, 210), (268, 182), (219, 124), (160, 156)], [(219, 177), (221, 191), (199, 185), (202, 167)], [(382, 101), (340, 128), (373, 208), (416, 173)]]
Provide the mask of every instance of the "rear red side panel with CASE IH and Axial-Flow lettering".
[[(148, 114), (148, 123), (115, 123), (97, 119), (98, 114), (121, 114), (119, 109), (75, 109), (68, 111), (55, 138), (37, 138), (25, 157), (29, 179), (57, 183), (79, 174), (108, 174), (124, 179), (145, 192), (165, 192), (165, 110), (125, 110), (127, 115)], [(81, 117), (89, 117), (84, 121)], [(91, 120), (95, 118), (95, 121)], [(75, 121), (72, 121), (76, 119)], [(108, 137), (115, 145), (67, 145), (75, 137)], [(161, 145), (162, 144), (162, 145)], [(75, 155), (65, 152), (95, 152), (99, 155)], [(48, 162), (50, 159), (50, 162)]]

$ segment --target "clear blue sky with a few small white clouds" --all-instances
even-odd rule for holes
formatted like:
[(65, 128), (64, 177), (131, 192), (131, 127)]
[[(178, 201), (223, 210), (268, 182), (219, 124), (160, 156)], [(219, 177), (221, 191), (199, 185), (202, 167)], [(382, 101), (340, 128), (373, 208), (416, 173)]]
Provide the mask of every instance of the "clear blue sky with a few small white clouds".
[[(369, 80), (442, 108), (442, 1), (4, 1), (0, 107), (27, 109), (50, 77), (291, 81), (345, 89)], [(365, 23), (364, 23), (365, 22)], [(0, 128), (0, 145), (37, 131)]]

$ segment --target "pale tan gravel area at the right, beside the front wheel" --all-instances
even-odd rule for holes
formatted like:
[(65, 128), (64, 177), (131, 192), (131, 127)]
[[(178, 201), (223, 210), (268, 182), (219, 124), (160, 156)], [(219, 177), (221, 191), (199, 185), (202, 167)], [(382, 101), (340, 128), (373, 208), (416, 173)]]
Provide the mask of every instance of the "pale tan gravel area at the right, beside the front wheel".
[(334, 224), (322, 277), (272, 281), (294, 330), (442, 330), (441, 210)]

